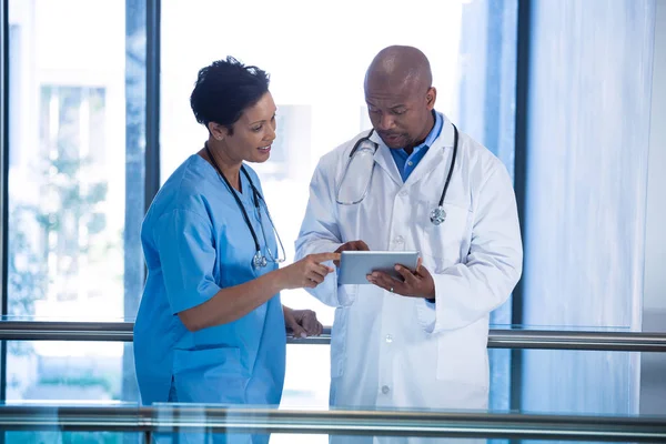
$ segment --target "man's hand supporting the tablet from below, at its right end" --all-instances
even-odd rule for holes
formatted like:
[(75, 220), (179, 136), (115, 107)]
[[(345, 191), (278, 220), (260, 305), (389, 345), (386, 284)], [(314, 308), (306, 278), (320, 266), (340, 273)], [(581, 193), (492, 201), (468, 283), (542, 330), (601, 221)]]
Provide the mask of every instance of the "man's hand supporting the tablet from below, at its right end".
[(379, 271), (369, 274), (367, 281), (386, 291), (403, 296), (424, 299), (435, 297), (435, 281), (427, 269), (423, 266), (421, 258), (418, 258), (416, 270), (410, 270), (403, 265), (395, 265), (395, 271), (401, 274), (402, 281)]

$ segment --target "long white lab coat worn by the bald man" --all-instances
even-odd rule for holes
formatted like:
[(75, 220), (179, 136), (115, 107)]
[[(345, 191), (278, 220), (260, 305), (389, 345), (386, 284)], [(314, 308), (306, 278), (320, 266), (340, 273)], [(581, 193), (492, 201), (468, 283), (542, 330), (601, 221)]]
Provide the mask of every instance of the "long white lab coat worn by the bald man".
[(404, 183), (390, 149), (374, 133), (371, 140), (379, 149), (369, 194), (360, 204), (339, 205), (335, 190), (346, 160), (366, 134), (320, 160), (296, 260), (354, 240), (365, 241), (371, 250), (418, 250), (433, 274), (436, 302), (374, 285), (339, 285), (336, 273), (311, 290), (336, 307), (330, 403), (350, 408), (485, 410), (490, 313), (506, 301), (522, 272), (511, 178), (497, 158), (461, 132), (444, 201), (446, 221), (433, 225), (428, 214), (437, 206), (453, 154), (453, 125), (444, 118), (440, 138)]

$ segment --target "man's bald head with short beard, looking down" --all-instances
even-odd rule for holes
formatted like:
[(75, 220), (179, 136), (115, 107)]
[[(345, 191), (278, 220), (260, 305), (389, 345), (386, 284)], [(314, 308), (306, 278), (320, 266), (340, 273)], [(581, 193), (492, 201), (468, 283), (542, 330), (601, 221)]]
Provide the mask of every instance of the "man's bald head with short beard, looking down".
[(375, 56), (365, 73), (370, 121), (384, 143), (407, 153), (425, 140), (435, 124), (437, 91), (423, 52), (389, 47)]

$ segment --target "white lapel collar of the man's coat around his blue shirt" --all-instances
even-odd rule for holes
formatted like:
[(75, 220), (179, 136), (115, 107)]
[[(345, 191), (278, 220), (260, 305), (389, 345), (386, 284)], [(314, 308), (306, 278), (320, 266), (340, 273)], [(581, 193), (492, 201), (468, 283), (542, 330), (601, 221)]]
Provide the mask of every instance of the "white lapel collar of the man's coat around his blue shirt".
[[(433, 145), (428, 148), (427, 152), (421, 159), (412, 174), (407, 178), (407, 181), (404, 183), (405, 185), (413, 184), (418, 182), (425, 175), (427, 175), (435, 168), (441, 165), (442, 157), (444, 155), (447, 148), (453, 148), (454, 142), (454, 130), (451, 120), (446, 118), (446, 115), (440, 113), (444, 121), (442, 127), (442, 132), (440, 137), (435, 139)], [(393, 155), (391, 155), (391, 149), (386, 147), (382, 138), (374, 131), (370, 137), (370, 140), (375, 142), (379, 148), (375, 151), (374, 160), (375, 162), (389, 174), (391, 180), (402, 186), (403, 181), (400, 175), (400, 171), (397, 171), (397, 167), (395, 165), (395, 160)], [(460, 143), (460, 141), (458, 141)]]

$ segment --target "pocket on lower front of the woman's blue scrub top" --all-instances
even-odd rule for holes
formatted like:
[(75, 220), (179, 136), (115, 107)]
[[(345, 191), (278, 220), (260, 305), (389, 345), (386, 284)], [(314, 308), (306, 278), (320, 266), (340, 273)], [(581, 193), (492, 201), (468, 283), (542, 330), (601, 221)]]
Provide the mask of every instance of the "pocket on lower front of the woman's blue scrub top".
[(175, 350), (173, 380), (181, 402), (244, 404), (250, 377), (240, 349), (215, 347)]

